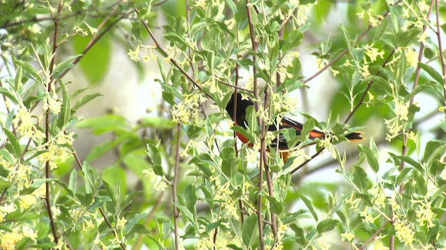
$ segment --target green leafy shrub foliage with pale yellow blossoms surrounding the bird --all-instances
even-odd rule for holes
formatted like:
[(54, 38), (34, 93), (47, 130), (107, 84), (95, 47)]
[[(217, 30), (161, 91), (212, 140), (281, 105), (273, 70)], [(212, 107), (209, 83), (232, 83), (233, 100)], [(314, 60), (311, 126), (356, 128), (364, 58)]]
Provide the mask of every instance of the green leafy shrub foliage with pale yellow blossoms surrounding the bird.
[[(444, 2), (175, 3), (0, 2), (2, 249), (444, 248)], [(157, 117), (77, 116), (101, 94), (70, 91), (64, 76), (79, 67), (100, 84), (113, 42), (141, 76), (144, 63), (159, 67)], [(318, 72), (303, 72), (299, 51)], [(302, 113), (301, 135), (268, 131), (295, 112), (293, 92), (316, 98), (322, 72), (337, 90), (321, 104), (328, 119)], [(246, 129), (225, 126), (234, 90), (256, 102)], [(376, 121), (367, 142), (339, 149)], [(81, 160), (74, 127), (113, 137)], [(313, 128), (327, 137), (310, 140)], [(268, 147), (279, 132), (295, 146), (285, 162)], [(116, 162), (91, 165), (109, 151)], [(323, 152), (334, 163), (313, 165)], [(302, 182), (332, 165), (342, 181)], [(141, 185), (127, 185), (129, 172)]]

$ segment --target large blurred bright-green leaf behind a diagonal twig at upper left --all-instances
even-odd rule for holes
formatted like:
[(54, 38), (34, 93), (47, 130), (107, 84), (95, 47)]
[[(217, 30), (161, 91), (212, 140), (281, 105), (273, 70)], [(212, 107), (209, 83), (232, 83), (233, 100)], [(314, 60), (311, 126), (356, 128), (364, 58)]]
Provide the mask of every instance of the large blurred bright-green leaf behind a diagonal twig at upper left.
[[(88, 36), (75, 35), (72, 37), (72, 46), (75, 49), (75, 53), (84, 53), (84, 49), (90, 40), (91, 38)], [(111, 52), (112, 42), (110, 42), (108, 35), (104, 35), (79, 61), (79, 66), (91, 85), (98, 85), (105, 77), (109, 67)]]

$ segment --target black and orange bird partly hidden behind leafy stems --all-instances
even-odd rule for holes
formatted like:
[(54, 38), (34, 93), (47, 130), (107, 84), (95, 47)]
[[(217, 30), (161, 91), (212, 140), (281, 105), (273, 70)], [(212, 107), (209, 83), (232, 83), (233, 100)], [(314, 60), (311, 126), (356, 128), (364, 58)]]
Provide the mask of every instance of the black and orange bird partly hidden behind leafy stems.
[[(254, 102), (251, 101), (251, 99), (242, 99), (242, 95), (240, 93), (237, 93), (237, 102), (236, 102), (236, 125), (241, 126), (246, 129), (247, 122), (246, 122), (246, 108), (249, 106), (253, 106)], [(232, 120), (234, 120), (234, 95), (231, 96), (231, 100), (229, 100), (229, 103), (226, 105), (226, 111), (229, 113), (229, 116)], [(303, 124), (300, 122), (296, 122), (293, 119), (289, 119), (286, 117), (283, 117), (282, 120), (279, 123), (279, 130), (282, 130), (284, 128), (293, 128), (295, 130), (296, 135), (300, 135), (300, 131), (302, 131)], [(268, 131), (277, 131), (277, 127), (275, 124), (270, 124), (268, 126)], [(245, 137), (242, 133), (236, 132), (237, 137), (242, 141), (243, 143), (247, 144), (249, 143), (249, 146), (252, 146), (252, 142), (249, 142), (248, 138)], [(362, 138), (361, 132), (353, 132), (349, 133), (348, 135), (344, 135), (345, 138), (347, 138), (350, 141), (362, 141), (364, 138)], [(325, 138), (327, 134), (318, 131), (316, 129), (309, 131), (309, 138), (314, 140), (315, 138)], [(279, 151), (282, 154), (282, 158), (284, 159), (284, 162), (288, 159), (288, 142), (284, 138), (284, 135), (282, 133), (279, 133), (277, 140), (272, 140), (271, 144), (269, 145), (272, 148), (279, 147)]]

